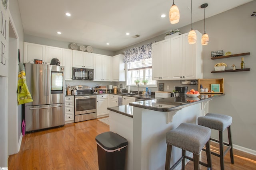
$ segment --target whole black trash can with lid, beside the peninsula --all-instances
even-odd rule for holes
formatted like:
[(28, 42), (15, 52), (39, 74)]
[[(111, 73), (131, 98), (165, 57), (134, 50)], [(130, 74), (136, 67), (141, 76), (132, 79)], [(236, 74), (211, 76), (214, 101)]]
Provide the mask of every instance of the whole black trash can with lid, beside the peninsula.
[(96, 136), (99, 170), (124, 170), (128, 141), (113, 132)]

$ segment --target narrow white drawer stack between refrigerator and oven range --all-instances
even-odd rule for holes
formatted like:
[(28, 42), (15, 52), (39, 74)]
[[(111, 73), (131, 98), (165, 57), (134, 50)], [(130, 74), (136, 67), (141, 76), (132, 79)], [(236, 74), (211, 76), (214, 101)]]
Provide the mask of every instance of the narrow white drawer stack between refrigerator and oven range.
[(74, 96), (65, 97), (65, 124), (74, 122)]

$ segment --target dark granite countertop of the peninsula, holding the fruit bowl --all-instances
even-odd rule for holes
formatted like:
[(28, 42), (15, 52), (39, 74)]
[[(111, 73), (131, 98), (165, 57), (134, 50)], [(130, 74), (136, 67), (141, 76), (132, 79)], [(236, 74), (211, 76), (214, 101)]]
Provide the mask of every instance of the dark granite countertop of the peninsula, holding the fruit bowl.
[(130, 106), (124, 105), (124, 106), (108, 107), (108, 110), (115, 111), (117, 113), (132, 117), (133, 112), (131, 111), (133, 111), (133, 108), (130, 108), (131, 106), (140, 107), (140, 108), (149, 109), (149, 110), (167, 112), (167, 111), (182, 109), (183, 107), (192, 106), (194, 104), (198, 104), (201, 102), (207, 102), (208, 100), (212, 100), (213, 98), (217, 98), (224, 95), (225, 94), (205, 94), (205, 95), (202, 94), (196, 98), (190, 98), (184, 95), (184, 96), (178, 96), (178, 97), (145, 100), (140, 102), (132, 102), (129, 104)]

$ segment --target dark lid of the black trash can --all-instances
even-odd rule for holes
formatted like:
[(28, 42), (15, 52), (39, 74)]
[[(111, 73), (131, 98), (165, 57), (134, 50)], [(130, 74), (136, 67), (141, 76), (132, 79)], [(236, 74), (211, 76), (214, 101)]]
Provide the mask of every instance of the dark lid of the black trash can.
[(108, 150), (114, 150), (114, 149), (118, 149), (128, 145), (128, 141), (124, 137), (111, 131), (104, 132), (104, 133), (101, 133), (100, 135), (97, 135), (95, 140), (104, 149), (108, 149)]

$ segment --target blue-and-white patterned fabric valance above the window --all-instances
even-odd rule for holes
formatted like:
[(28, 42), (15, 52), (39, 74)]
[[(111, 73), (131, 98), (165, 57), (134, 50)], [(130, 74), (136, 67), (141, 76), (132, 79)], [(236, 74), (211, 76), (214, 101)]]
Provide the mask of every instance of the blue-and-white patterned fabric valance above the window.
[(142, 45), (141, 47), (134, 47), (122, 52), (124, 54), (124, 63), (140, 61), (142, 59), (150, 59), (152, 53), (151, 44), (152, 43), (148, 43)]

